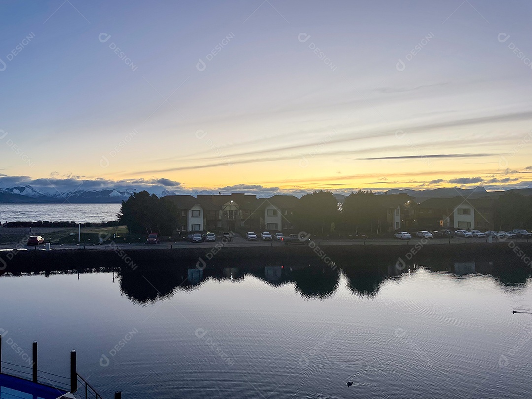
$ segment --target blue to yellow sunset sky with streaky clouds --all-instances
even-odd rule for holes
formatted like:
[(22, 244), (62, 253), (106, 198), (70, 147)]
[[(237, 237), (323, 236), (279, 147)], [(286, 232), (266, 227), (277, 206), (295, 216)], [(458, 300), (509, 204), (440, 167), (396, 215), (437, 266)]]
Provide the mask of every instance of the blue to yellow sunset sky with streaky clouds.
[(0, 187), (532, 187), (532, 2), (0, 3)]

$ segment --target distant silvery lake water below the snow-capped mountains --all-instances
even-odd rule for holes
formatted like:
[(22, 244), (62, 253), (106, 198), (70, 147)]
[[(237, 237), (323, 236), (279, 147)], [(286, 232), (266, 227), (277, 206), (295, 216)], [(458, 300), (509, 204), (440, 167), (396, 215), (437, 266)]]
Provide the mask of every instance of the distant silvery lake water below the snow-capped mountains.
[(120, 204), (0, 204), (0, 221), (106, 222), (119, 211)]

